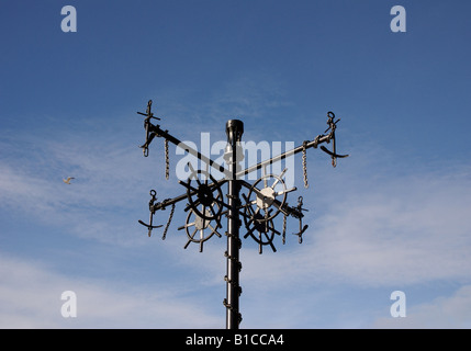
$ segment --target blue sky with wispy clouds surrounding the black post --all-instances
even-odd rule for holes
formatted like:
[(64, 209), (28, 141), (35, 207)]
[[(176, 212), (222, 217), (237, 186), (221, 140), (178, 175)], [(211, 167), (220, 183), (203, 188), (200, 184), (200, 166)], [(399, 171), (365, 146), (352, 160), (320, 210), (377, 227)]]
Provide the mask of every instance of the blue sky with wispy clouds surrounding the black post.
[[(406, 10), (393, 33), (391, 8)], [(64, 33), (64, 5), (77, 32)], [(0, 1), (0, 327), (224, 328), (225, 238), (152, 238), (148, 192), (184, 192), (182, 140), (313, 139), (334, 111), (336, 169), (307, 152), (300, 246), (244, 240), (242, 328), (471, 327), (471, 3)], [(63, 178), (75, 177), (71, 185)], [(167, 212), (156, 214), (165, 224)], [(290, 230), (296, 222), (290, 219)], [(222, 230), (224, 231), (224, 230)], [(392, 318), (390, 295), (406, 295)], [(60, 294), (77, 294), (63, 318)]]

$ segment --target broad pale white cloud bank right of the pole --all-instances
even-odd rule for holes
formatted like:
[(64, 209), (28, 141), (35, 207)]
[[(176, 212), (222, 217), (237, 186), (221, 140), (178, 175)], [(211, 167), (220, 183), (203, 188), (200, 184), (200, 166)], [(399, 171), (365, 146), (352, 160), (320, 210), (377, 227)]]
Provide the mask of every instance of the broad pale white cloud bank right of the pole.
[(470, 208), (468, 173), (392, 179), (382, 192), (352, 190), (332, 215), (311, 223), (301, 247), (280, 248), (263, 264), (255, 252), (245, 253), (246, 263), (254, 262), (245, 279), (361, 286), (469, 281)]

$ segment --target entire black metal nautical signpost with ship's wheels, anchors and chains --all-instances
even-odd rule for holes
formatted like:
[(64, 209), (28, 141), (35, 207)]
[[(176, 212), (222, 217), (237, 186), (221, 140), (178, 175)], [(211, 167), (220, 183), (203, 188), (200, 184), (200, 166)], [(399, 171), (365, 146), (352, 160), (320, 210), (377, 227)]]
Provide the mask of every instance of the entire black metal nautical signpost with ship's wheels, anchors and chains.
[[(239, 261), (239, 249), (242, 246), (239, 227), (242, 224), (244, 223), (245, 229), (247, 230), (244, 235), (244, 239), (248, 237), (254, 239), (258, 244), (259, 253), (262, 253), (262, 248), (265, 246), (270, 246), (273, 252), (277, 251), (273, 240), (277, 236), (281, 235), (281, 233), (276, 228), (276, 220), (278, 220), (277, 218), (279, 218), (280, 213), (283, 214), (283, 244), (285, 240), (287, 218), (289, 216), (299, 219), (299, 231), (293, 235), (298, 236), (300, 244), (303, 240), (302, 235), (307, 229), (307, 225), (303, 226), (302, 222), (304, 217), (303, 212), (307, 211), (306, 208), (303, 208), (303, 197), (298, 197), (296, 206), (290, 206), (288, 204), (288, 195), (291, 192), (296, 191), (296, 188), (287, 188), (283, 180), (287, 169), (284, 169), (280, 174), (267, 174), (266, 167), (287, 157), (302, 152), (303, 180), (304, 186), (307, 188), (306, 150), (309, 148), (317, 148), (319, 144), (329, 144), (332, 141), (332, 151), (324, 146), (321, 146), (321, 149), (332, 157), (333, 167), (337, 166), (337, 158), (348, 157), (348, 155), (337, 154), (336, 150), (335, 131), (340, 118), (334, 121), (335, 114), (333, 112), (328, 112), (328, 128), (324, 134), (317, 135), (313, 140), (305, 140), (301, 146), (272, 157), (269, 160), (265, 160), (260, 163), (240, 170), (239, 162), (244, 158), (244, 150), (240, 146), (240, 139), (244, 133), (244, 123), (242, 121), (229, 120), (226, 123), (227, 147), (224, 154), (224, 160), (227, 168), (225, 168), (206, 156), (201, 155), (191, 146), (180, 141), (178, 138), (170, 135), (168, 131), (161, 129), (159, 125), (152, 124), (150, 120), (153, 118), (160, 121), (160, 118), (155, 117), (152, 112), (152, 100), (147, 103), (146, 113), (137, 113), (145, 116), (144, 128), (146, 139), (141, 146), (145, 157), (148, 156), (148, 147), (156, 136), (165, 138), (167, 179), (169, 177), (169, 141), (182, 148), (186, 152), (193, 155), (205, 165), (204, 170), (195, 170), (191, 163), (188, 163), (190, 176), (187, 181), (180, 181), (180, 184), (186, 189), (186, 192), (177, 197), (157, 202), (157, 193), (155, 190), (152, 190), (152, 199), (148, 206), (150, 212), (149, 224), (146, 224), (143, 220), (138, 220), (138, 223), (147, 227), (148, 236), (150, 237), (153, 229), (162, 227), (162, 225), (153, 225), (154, 214), (156, 211), (166, 210), (166, 207), (170, 205), (170, 215), (162, 235), (162, 239), (165, 239), (173, 216), (176, 204), (187, 200), (187, 206), (183, 208), (184, 212), (188, 212), (186, 224), (180, 226), (178, 229), (184, 229), (187, 234), (188, 240), (183, 246), (184, 249), (193, 242), (199, 245), (200, 252), (202, 252), (204, 242), (210, 238), (222, 237), (218, 229), (223, 227), (221, 222), (222, 217), (226, 216), (227, 231), (225, 235), (227, 237), (227, 250), (224, 256), (227, 259), (227, 274), (224, 276), (224, 281), (226, 282), (226, 298), (224, 298), (223, 304), (226, 307), (226, 328), (238, 329), (242, 320), (238, 303), (238, 298), (242, 293), (242, 287), (239, 285), (239, 272), (242, 270), (242, 263)], [(327, 132), (328, 134), (326, 134)], [(221, 180), (216, 180), (211, 174), (210, 167), (223, 173), (224, 177)], [(242, 180), (244, 176), (261, 168), (263, 170), (263, 174), (253, 184)], [(227, 193), (224, 196), (222, 186), (226, 183)], [(245, 193), (240, 194), (243, 191)], [(240, 201), (240, 196), (244, 202)], [(244, 218), (244, 222), (240, 220), (240, 216)]]

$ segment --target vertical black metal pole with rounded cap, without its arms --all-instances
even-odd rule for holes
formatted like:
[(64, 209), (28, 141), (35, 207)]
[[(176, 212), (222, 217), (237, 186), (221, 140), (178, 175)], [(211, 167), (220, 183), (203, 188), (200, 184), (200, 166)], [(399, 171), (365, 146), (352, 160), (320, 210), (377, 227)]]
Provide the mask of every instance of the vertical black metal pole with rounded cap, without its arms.
[(238, 120), (229, 120), (226, 123), (227, 134), (227, 147), (224, 154), (224, 159), (228, 165), (228, 169), (232, 173), (227, 182), (227, 197), (228, 197), (228, 211), (227, 211), (227, 251), (225, 256), (227, 258), (227, 270), (226, 276), (226, 298), (224, 299), (224, 306), (226, 307), (226, 329), (238, 329), (242, 316), (239, 313), (239, 295), (242, 288), (239, 285), (239, 271), (242, 264), (239, 262), (239, 227), (240, 219), (238, 215), (238, 206), (240, 204), (239, 193), (240, 183), (236, 179), (236, 173), (239, 171), (239, 161), (244, 158), (244, 154), (240, 147), (240, 137), (244, 133), (244, 123)]

